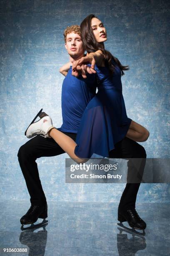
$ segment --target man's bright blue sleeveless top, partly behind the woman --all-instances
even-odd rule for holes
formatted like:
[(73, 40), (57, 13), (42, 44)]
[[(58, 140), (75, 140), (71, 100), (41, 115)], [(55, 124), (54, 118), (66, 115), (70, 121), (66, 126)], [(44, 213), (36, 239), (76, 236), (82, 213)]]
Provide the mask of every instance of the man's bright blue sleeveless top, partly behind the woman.
[(72, 76), (72, 66), (62, 83), (61, 108), (62, 126), (59, 131), (77, 133), (82, 114), (90, 100), (96, 94), (96, 76), (87, 74), (83, 79)]

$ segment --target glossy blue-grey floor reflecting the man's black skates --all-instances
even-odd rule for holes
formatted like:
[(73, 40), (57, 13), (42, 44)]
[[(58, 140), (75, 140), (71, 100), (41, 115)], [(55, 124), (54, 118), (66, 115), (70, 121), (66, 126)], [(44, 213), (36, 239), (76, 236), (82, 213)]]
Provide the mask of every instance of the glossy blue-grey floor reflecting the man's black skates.
[[(0, 255), (169, 255), (170, 203), (137, 204), (136, 210), (147, 228), (145, 232), (136, 230), (136, 233), (126, 222), (123, 224), (127, 229), (117, 225), (116, 203), (47, 204), (48, 222), (42, 227), (22, 231), (20, 218), (29, 209), (30, 202), (1, 202)], [(40, 222), (42, 219), (37, 220)], [(4, 252), (4, 248), (6, 251), (18, 248), (20, 252)]]

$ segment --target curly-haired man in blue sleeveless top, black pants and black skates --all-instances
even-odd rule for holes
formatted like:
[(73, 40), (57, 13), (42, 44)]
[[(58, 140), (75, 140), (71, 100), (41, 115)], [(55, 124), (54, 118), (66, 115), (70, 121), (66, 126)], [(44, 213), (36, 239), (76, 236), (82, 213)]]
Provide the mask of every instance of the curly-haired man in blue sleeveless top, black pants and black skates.
[[(74, 61), (84, 56), (84, 49), (82, 47), (80, 31), (78, 31), (77, 27), (76, 30), (72, 29), (72, 27), (70, 28), (71, 29), (65, 31), (65, 46), (70, 55), (70, 61), (74, 63)], [(67, 47), (69, 45), (70, 47)], [(92, 73), (92, 70), (89, 70), (89, 73), (90, 75), (87, 74), (86, 79), (77, 79), (72, 76), (72, 70), (69, 69), (62, 85), (63, 124), (59, 130), (70, 136), (73, 140), (75, 140), (82, 113), (89, 100), (95, 95), (95, 74)], [(80, 83), (83, 87), (78, 86)], [(35, 149), (37, 148), (36, 145), (40, 148), (38, 151)], [(64, 151), (52, 138), (43, 138), (42, 136), (32, 138), (20, 148), (18, 159), (31, 196), (30, 202), (32, 204), (30, 212), (21, 218), (22, 224), (26, 224), (30, 220), (35, 222), (38, 217), (47, 216), (46, 198), (42, 190), (35, 160), (41, 156), (56, 156), (62, 153), (64, 153)], [(125, 137), (122, 141), (115, 144), (115, 149), (110, 151), (109, 157), (138, 159), (138, 161), (135, 161), (135, 159), (134, 161), (128, 161), (128, 183), (126, 184), (118, 207), (118, 220), (121, 222), (128, 221), (131, 227), (145, 229), (146, 223), (140, 219), (135, 210), (135, 201), (145, 167), (145, 149), (137, 142)], [(140, 174), (139, 183), (130, 183), (132, 182), (131, 177), (137, 175), (138, 172)], [(135, 178), (134, 181), (136, 181)], [(37, 194), (36, 198), (35, 191)]]

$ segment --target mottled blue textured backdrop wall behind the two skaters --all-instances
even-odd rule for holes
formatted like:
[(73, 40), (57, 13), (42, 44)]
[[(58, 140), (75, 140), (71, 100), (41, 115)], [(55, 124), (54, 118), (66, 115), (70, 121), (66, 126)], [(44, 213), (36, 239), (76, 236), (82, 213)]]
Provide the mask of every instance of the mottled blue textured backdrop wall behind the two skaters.
[[(43, 108), (62, 124), (62, 64), (66, 26), (90, 13), (107, 29), (106, 49), (130, 70), (122, 77), (128, 116), (150, 137), (141, 143), (150, 158), (169, 157), (169, 13), (162, 0), (1, 0), (0, 195), (29, 200), (17, 153), (34, 115)], [(66, 154), (37, 159), (47, 200), (118, 202), (125, 184), (65, 184)], [(138, 202), (169, 201), (169, 184), (141, 184)]]

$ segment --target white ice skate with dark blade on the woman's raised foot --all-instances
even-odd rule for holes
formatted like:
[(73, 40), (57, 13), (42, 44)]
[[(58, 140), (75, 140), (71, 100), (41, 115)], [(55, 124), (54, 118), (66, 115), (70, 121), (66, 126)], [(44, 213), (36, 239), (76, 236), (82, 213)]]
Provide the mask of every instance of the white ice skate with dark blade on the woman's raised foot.
[[(40, 117), (40, 120), (34, 123), (35, 119), (37, 117)], [(45, 138), (51, 138), (48, 132), (55, 128), (52, 125), (52, 120), (49, 115), (47, 115), (45, 112), (42, 112), (42, 109), (39, 113), (35, 116), (35, 118), (32, 120), (30, 125), (28, 126), (27, 130), (25, 131), (25, 135), (27, 138), (32, 138), (38, 134), (41, 134), (45, 136)]]

